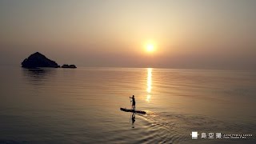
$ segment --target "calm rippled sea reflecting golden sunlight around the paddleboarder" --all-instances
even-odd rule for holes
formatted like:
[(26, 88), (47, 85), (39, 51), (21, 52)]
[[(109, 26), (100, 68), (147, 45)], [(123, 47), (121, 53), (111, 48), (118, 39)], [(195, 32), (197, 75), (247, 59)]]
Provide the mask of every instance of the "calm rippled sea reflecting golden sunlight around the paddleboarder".
[[(255, 143), (255, 72), (3, 67), (0, 143)], [(132, 94), (147, 112), (134, 124), (119, 110), (130, 108)]]

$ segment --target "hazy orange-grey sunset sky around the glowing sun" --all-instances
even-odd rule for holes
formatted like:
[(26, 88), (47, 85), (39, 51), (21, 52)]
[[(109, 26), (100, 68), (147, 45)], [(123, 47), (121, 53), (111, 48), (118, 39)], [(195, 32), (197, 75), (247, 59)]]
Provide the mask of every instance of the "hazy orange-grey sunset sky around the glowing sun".
[[(0, 65), (256, 69), (254, 0), (0, 0)], [(146, 45), (154, 46), (153, 52)]]

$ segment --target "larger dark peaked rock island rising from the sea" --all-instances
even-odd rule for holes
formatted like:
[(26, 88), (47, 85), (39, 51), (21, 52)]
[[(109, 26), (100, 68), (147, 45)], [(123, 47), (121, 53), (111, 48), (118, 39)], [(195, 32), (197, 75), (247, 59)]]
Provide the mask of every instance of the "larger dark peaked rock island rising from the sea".
[(22, 62), (24, 68), (38, 68), (38, 67), (54, 67), (58, 68), (58, 64), (49, 58), (46, 58), (43, 54), (38, 52), (31, 54), (29, 58), (24, 59)]

